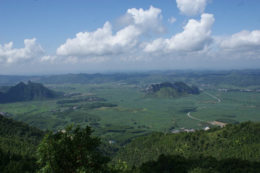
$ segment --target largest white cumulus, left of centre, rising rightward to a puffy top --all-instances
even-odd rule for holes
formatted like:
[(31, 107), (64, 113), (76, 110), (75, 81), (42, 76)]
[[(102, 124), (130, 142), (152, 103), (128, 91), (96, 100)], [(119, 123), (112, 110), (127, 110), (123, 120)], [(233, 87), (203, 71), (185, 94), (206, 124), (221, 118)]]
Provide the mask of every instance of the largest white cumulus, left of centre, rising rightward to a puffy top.
[[(134, 52), (142, 34), (166, 32), (162, 25), (161, 10), (150, 6), (149, 10), (128, 9), (120, 21), (128, 26), (112, 34), (112, 25), (106, 22), (103, 28), (94, 32), (80, 32), (73, 39), (67, 39), (56, 53), (63, 56), (119, 55)], [(125, 20), (124, 20), (125, 18)]]

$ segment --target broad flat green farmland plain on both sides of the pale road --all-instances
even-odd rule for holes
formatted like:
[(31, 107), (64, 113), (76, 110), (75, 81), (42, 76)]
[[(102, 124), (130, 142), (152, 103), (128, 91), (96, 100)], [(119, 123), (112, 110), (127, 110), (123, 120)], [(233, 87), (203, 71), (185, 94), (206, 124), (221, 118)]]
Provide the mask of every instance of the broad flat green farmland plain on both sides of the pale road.
[[(56, 104), (58, 100), (21, 102), (12, 104), (0, 104), (0, 111), (11, 113), (12, 118), (25, 121), (42, 129), (59, 129), (66, 124), (93, 125), (98, 123), (99, 127), (108, 124), (129, 125), (138, 129), (150, 129), (154, 131), (169, 131), (171, 129), (198, 128), (207, 124), (187, 116), (189, 111), (207, 106), (218, 100), (214, 97), (201, 93), (200, 95), (189, 95), (188, 97), (175, 99), (144, 99), (142, 88), (135, 84), (117, 85), (117, 83), (101, 84), (62, 84), (45, 85), (48, 88), (65, 93), (80, 93), (68, 99), (99, 97), (107, 99), (110, 104), (117, 107), (100, 107), (96, 109), (72, 110), (71, 113), (53, 113), (50, 110), (69, 111), (70, 107), (83, 106), (93, 102), (76, 102), (68, 104)], [(218, 86), (221, 88), (221, 86)], [(231, 88), (231, 87), (230, 87)], [(260, 94), (253, 92), (225, 92), (206, 91), (219, 98), (221, 102), (212, 106), (192, 112), (192, 117), (215, 121), (226, 118), (238, 122), (248, 120), (260, 120)]]

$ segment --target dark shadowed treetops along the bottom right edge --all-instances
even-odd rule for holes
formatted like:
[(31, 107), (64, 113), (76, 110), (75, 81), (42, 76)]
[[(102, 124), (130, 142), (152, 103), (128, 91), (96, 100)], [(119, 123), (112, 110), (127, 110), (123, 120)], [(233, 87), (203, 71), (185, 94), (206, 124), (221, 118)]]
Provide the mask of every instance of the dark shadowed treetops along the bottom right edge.
[(158, 156), (157, 160), (143, 162), (136, 169), (139, 173), (227, 173), (227, 172), (260, 172), (259, 162), (240, 158), (216, 159), (210, 155), (183, 157), (181, 155)]

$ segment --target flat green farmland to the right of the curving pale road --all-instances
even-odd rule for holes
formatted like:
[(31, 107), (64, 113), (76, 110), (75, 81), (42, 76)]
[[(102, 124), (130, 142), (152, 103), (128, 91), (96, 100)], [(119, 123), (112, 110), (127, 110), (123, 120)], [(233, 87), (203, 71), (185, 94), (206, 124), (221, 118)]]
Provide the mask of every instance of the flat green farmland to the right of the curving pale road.
[[(260, 94), (247, 92), (207, 91), (209, 94), (221, 100), (205, 109), (192, 112), (194, 118), (214, 121), (220, 118), (228, 118), (238, 122), (260, 120)], [(210, 97), (210, 96), (209, 96)]]

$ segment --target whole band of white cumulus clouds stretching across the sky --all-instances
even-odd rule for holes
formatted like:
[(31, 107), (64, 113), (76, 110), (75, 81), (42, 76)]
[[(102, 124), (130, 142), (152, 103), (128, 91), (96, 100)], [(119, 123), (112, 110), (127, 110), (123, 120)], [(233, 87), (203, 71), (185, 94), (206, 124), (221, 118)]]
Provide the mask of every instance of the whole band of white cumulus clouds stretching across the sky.
[[(172, 33), (168, 38), (162, 37), (167, 28), (161, 9), (153, 6), (148, 10), (131, 8), (118, 20), (124, 27), (117, 32), (113, 33), (112, 24), (107, 21), (93, 32), (77, 33), (75, 38), (67, 39), (56, 49), (56, 55), (46, 56), (35, 38), (25, 39), (25, 47), (19, 49), (13, 48), (13, 42), (10, 42), (0, 45), (0, 63), (101, 64), (260, 58), (260, 30), (243, 30), (232, 36), (213, 37), (214, 15), (203, 13), (206, 0), (176, 0), (176, 3), (182, 14), (202, 14), (200, 20), (188, 20), (181, 32)], [(172, 24), (175, 21), (176, 18), (170, 17), (165, 22)], [(218, 50), (212, 51), (212, 45)]]

